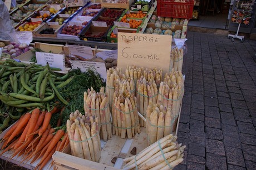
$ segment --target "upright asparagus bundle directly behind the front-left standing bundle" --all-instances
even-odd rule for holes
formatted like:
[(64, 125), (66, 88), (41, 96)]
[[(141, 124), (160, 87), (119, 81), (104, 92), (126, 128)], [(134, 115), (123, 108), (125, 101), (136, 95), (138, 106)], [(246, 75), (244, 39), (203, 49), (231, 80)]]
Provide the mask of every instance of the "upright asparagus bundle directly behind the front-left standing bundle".
[(83, 107), (88, 116), (99, 118), (100, 136), (104, 141), (112, 137), (111, 121), (110, 121), (110, 107), (107, 96), (104, 93), (104, 87), (100, 92), (95, 92), (93, 88), (88, 89), (83, 94)]

